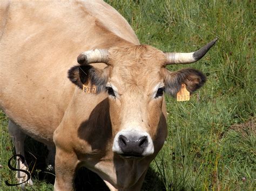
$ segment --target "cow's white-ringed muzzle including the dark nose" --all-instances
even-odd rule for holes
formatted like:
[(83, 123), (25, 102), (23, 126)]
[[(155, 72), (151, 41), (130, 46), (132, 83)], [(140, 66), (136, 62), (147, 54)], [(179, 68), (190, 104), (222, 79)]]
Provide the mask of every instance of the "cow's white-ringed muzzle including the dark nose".
[(125, 158), (140, 158), (153, 154), (154, 145), (147, 132), (122, 130), (114, 137), (112, 151)]

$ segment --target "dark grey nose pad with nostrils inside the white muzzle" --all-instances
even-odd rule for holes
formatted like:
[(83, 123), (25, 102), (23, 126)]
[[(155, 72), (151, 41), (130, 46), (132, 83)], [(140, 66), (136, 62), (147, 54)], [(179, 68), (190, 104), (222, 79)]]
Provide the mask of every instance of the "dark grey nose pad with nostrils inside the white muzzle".
[(127, 138), (119, 136), (118, 144), (125, 157), (141, 157), (145, 148), (149, 145), (147, 136)]

